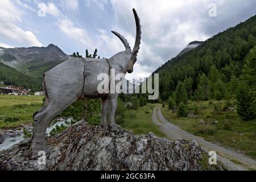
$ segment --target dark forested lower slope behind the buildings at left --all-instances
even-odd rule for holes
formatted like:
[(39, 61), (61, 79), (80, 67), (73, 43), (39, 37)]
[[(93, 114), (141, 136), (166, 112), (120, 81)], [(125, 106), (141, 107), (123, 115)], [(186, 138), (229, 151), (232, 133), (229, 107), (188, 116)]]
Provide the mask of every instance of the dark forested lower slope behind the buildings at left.
[(0, 80), (4, 81), (5, 85), (23, 86), (32, 89), (32, 92), (43, 90), (41, 78), (27, 76), (3, 63), (0, 63)]

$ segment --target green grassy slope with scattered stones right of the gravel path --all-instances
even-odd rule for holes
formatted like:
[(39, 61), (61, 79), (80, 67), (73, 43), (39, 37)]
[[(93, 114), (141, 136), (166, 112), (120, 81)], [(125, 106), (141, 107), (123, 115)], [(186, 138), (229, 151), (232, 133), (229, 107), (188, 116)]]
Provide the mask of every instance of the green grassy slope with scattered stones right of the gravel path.
[[(166, 119), (181, 129), (189, 133), (199, 135), (205, 139), (218, 142), (224, 146), (229, 146), (234, 150), (243, 151), (256, 159), (256, 121), (242, 121), (235, 111), (215, 111), (214, 105), (218, 101), (199, 102), (199, 118), (179, 118), (176, 114), (172, 114), (168, 108), (162, 108), (162, 113)], [(195, 102), (189, 102), (188, 111), (193, 112)], [(224, 106), (224, 101), (222, 101)], [(198, 123), (200, 119), (204, 119), (205, 125)], [(217, 124), (212, 124), (213, 121), (218, 121)]]

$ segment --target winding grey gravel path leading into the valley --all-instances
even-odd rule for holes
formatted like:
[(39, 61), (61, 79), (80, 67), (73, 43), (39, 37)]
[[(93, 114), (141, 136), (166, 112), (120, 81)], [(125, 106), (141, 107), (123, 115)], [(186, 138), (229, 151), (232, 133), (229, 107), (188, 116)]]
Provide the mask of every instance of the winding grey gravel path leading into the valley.
[[(228, 167), (229, 170), (235, 171), (246, 171), (250, 168), (256, 169), (256, 161), (242, 154), (238, 154), (237, 152), (219, 146), (217, 144), (208, 142), (201, 137), (197, 137), (196, 135), (190, 134), (187, 131), (181, 130), (180, 127), (170, 123), (163, 117), (163, 114), (159, 107), (155, 107), (152, 113), (152, 121), (155, 125), (159, 126), (164, 134), (167, 135), (168, 138), (173, 140), (196, 140), (197, 143), (200, 144), (206, 151), (216, 151), (217, 152), (217, 160), (220, 160), (225, 166)], [(232, 162), (230, 159), (233, 159), (241, 162), (242, 164), (236, 164)]]

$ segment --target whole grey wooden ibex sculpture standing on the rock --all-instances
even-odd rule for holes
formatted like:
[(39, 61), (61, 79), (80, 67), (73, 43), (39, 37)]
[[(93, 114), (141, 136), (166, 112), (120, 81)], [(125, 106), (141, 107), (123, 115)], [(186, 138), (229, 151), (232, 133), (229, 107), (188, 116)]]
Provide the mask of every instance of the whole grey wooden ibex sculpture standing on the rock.
[[(137, 61), (137, 53), (141, 44), (140, 20), (135, 9), (133, 9), (133, 13), (137, 27), (133, 51), (131, 51), (129, 43), (122, 35), (112, 31), (125, 45), (126, 51), (119, 52), (110, 59), (73, 57), (44, 73), (43, 88), (46, 93), (46, 102), (34, 114), (34, 133), (30, 147), (32, 157), (38, 156), (39, 151), (46, 151), (46, 129), (49, 122), (79, 98), (101, 98), (100, 125), (104, 128), (109, 127), (110, 131), (116, 130), (114, 117), (117, 109), (118, 93), (98, 92), (98, 84), (100, 84), (98, 75), (105, 73), (110, 77), (111, 69), (114, 69), (115, 75), (123, 73), (125, 76), (126, 72), (133, 72), (133, 65)], [(108, 112), (109, 125), (107, 122)]]

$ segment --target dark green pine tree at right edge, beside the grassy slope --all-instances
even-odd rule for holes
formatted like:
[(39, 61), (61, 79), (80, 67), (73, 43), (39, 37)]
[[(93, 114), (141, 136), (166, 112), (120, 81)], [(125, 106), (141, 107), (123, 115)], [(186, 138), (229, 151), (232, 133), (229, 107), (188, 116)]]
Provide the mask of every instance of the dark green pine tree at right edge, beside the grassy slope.
[(240, 82), (236, 90), (237, 114), (248, 121), (256, 118), (255, 94), (245, 82)]

